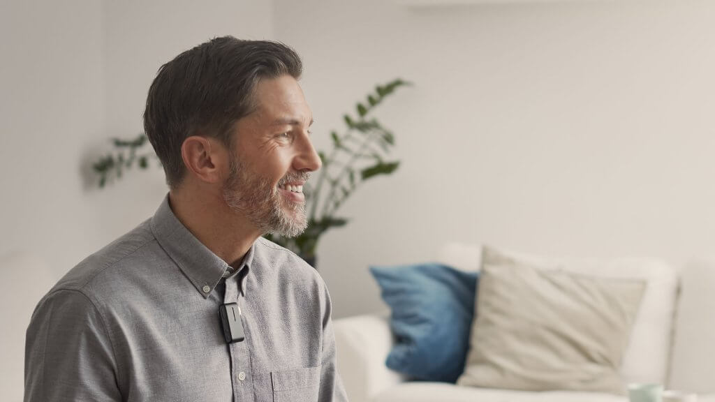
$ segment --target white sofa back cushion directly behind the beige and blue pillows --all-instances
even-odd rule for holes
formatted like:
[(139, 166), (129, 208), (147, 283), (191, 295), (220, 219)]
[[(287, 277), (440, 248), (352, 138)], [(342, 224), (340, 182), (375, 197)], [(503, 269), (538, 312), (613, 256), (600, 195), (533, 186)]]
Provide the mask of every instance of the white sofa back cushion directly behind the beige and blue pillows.
[[(440, 262), (458, 261), (473, 267), (482, 247), (451, 243), (440, 250)], [(671, 349), (671, 334), (676, 308), (679, 276), (670, 265), (646, 258), (594, 260), (582, 258), (548, 258), (525, 253), (506, 252), (515, 258), (543, 267), (561, 267), (576, 273), (604, 275), (611, 278), (641, 278), (648, 287), (641, 301), (623, 358), (621, 375), (627, 382), (666, 383)]]

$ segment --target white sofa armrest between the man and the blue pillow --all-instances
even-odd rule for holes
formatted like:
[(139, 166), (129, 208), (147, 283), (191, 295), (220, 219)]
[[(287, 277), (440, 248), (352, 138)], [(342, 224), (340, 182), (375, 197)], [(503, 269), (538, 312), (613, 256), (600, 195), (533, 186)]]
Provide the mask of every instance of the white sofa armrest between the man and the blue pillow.
[(389, 318), (356, 315), (333, 323), (337, 348), (337, 371), (351, 402), (368, 402), (380, 391), (405, 381), (385, 366), (393, 346)]

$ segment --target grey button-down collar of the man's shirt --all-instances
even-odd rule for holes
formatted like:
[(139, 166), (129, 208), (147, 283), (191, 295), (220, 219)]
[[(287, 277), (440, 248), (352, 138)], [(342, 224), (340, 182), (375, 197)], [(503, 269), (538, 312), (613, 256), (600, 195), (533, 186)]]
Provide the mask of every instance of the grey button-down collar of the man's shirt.
[[(159, 245), (174, 260), (199, 293), (204, 298), (208, 298), (229, 269), (229, 265), (194, 237), (179, 221), (169, 206), (169, 195), (164, 197), (164, 201), (159, 205), (159, 209), (152, 217), (151, 225)], [(237, 270), (231, 275), (240, 273), (238, 278), (244, 295), (254, 247), (255, 242), (246, 253), (240, 267), (235, 267)]]

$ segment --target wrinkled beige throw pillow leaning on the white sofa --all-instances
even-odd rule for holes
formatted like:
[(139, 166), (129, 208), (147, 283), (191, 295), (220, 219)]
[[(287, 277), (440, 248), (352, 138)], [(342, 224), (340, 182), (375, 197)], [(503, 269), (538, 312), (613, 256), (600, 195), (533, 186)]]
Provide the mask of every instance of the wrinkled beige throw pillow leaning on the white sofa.
[(485, 247), (460, 386), (622, 394), (643, 280), (537, 268)]

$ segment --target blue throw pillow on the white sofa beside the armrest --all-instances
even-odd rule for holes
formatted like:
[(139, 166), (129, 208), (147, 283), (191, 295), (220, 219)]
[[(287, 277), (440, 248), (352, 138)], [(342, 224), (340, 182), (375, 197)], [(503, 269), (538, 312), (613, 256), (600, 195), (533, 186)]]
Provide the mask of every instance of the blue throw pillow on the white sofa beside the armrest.
[(455, 383), (469, 348), (478, 273), (440, 264), (370, 272), (392, 310), (397, 342), (387, 366), (417, 380)]

